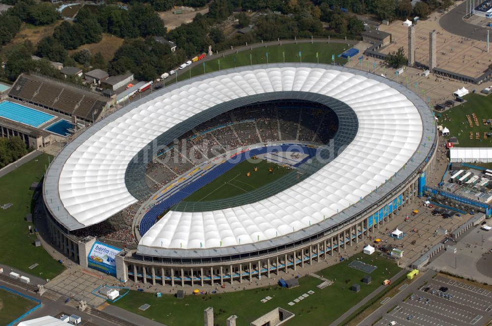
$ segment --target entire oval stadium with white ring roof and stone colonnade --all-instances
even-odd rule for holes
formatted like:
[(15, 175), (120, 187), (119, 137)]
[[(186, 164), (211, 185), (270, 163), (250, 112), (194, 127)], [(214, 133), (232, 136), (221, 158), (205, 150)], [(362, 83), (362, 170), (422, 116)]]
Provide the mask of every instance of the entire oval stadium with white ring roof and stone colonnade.
[(123, 281), (282, 276), (398, 215), (435, 168), (436, 143), (426, 103), (382, 76), (309, 63), (218, 71), (67, 144), (43, 184), (50, 235)]

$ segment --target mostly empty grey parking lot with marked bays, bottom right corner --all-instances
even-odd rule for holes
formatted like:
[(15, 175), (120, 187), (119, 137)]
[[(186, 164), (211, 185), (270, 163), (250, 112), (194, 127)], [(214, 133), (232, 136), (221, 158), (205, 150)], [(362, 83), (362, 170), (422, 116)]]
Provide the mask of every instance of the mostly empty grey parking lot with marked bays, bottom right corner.
[(374, 325), (481, 326), (491, 320), (491, 310), (491, 291), (437, 276)]

